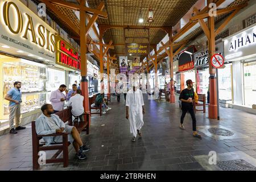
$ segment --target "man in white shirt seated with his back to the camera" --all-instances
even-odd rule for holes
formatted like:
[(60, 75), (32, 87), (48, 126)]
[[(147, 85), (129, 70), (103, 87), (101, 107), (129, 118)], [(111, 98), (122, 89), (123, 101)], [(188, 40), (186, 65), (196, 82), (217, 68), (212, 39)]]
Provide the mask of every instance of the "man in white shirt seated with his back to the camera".
[(76, 90), (75, 96), (71, 97), (68, 102), (68, 107), (72, 107), (72, 114), (75, 116), (74, 122), (78, 121), (78, 118), (80, 121), (84, 121), (84, 96), (81, 96), (81, 90)]

